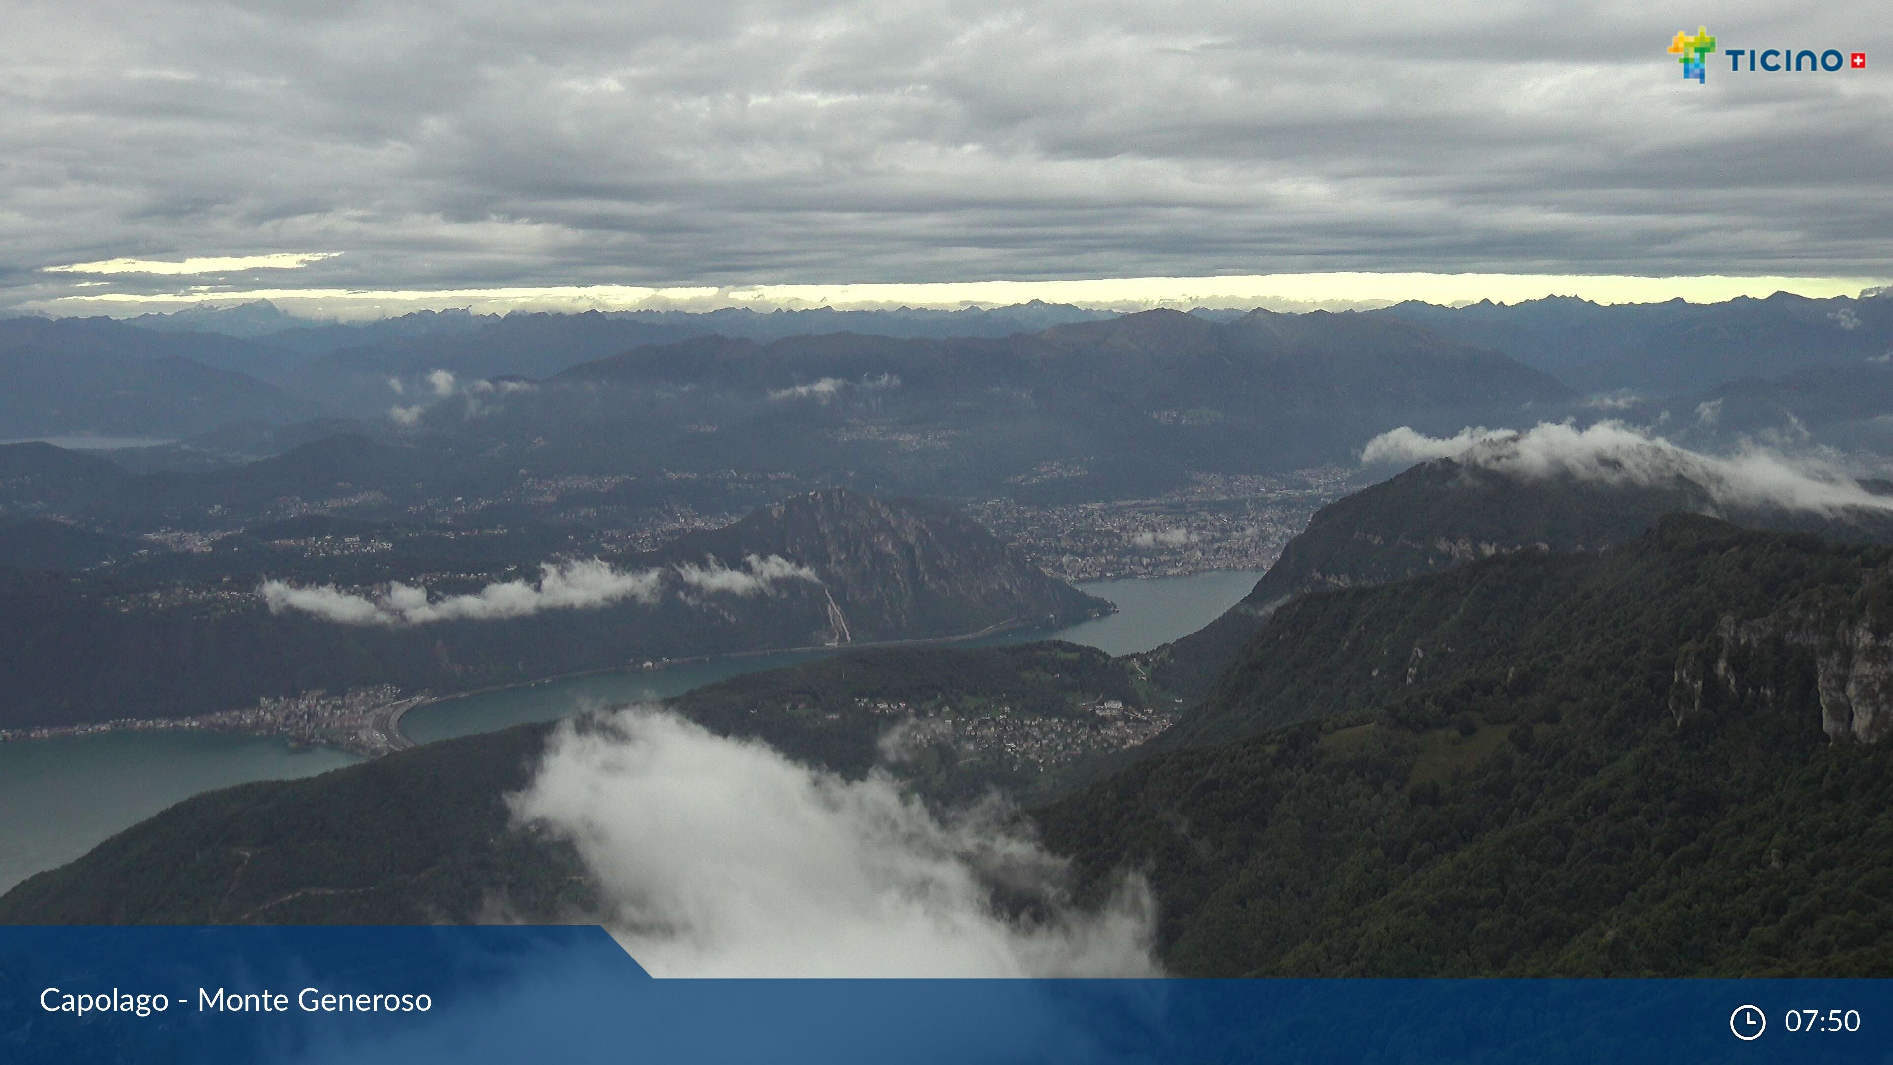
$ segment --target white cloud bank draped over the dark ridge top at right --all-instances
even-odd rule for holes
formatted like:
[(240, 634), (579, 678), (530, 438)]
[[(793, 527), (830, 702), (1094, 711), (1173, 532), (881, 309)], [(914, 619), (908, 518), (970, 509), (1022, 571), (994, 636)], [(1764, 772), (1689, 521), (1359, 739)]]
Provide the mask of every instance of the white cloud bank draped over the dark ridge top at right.
[(1456, 459), (1528, 481), (1577, 478), (1605, 485), (1670, 487), (1694, 481), (1717, 506), (1776, 506), (1834, 514), (1846, 508), (1893, 510), (1821, 453), (1789, 455), (1745, 442), (1734, 455), (1704, 455), (1617, 421), (1588, 428), (1539, 423), (1511, 428), (1463, 428), (1450, 438), (1408, 426), (1384, 432), (1361, 451), (1361, 462)]

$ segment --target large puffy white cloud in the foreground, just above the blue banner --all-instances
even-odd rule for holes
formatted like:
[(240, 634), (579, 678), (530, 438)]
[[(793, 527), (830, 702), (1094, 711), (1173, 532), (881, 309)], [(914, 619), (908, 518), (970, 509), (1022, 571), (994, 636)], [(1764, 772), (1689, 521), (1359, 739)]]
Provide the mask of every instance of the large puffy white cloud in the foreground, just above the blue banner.
[[(653, 976), (1159, 974), (1140, 879), (1081, 912), (1064, 862), (990, 815), (941, 819), (878, 771), (844, 781), (659, 709), (562, 724), (511, 803), (572, 839)], [(1045, 915), (1003, 913), (1000, 883)]]

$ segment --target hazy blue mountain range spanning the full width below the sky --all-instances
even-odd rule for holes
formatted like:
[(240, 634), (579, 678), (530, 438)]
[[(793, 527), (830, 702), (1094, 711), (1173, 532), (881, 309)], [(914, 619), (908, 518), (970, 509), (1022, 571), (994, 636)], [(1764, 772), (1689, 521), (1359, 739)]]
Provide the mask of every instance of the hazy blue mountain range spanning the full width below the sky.
[[(753, 349), (704, 339), (712, 335)], [(638, 351), (647, 354), (628, 354)], [(1448, 351), (1497, 352), (1513, 366), (1494, 362), (1488, 373)], [(1399, 423), (1452, 432), (1620, 417), (1660, 423), (1664, 432), (1704, 445), (1789, 432), (1842, 447), (1887, 447), (1889, 352), (1893, 301), (1885, 298), (1403, 303), (1346, 315), (1107, 315), (1045, 303), (702, 315), (424, 311), (362, 324), (309, 324), (252, 303), (123, 322), (0, 320), (0, 371), (13, 385), (0, 398), (0, 440), (189, 438), (225, 423), (316, 417), (354, 419), (388, 434), (420, 419), (435, 432), (488, 440), (494, 430), (475, 423), (524, 406), (524, 387), (553, 385), (570, 400), (566, 385), (589, 383), (611, 387), (634, 406), (687, 415), (653, 426), (640, 447), (689, 460), (693, 453), (740, 453), (746, 434), (799, 421), (780, 400), (767, 411), (759, 406), (770, 392), (787, 392), (822, 407), (799, 411), (801, 421), (822, 413), (829, 423), (861, 423), (865, 432), (823, 426), (854, 447), (789, 440), (786, 460), (833, 464), (852, 459), (835, 451), (873, 451), (871, 440), (899, 436), (901, 447), (960, 453), (939, 483), (909, 470), (899, 474), (905, 479), (875, 487), (933, 493), (956, 481), (990, 481), (996, 459), (1005, 457), (1013, 468), (1000, 479), (1032, 479), (1045, 485), (1034, 491), (1077, 498), (1100, 485), (1145, 491), (1181, 468), (1208, 470), (1229, 455), (1270, 468), (1331, 462)], [(693, 366), (697, 358), (710, 364)], [(1461, 358), (1458, 368), (1454, 358)], [(655, 366), (664, 360), (681, 364)], [(729, 377), (733, 360), (746, 360), (748, 383), (767, 385), (767, 392), (736, 390), (744, 379)], [(763, 366), (770, 370), (759, 371)], [(1526, 368), (1548, 377), (1531, 379)], [(992, 379), (977, 385), (969, 373)], [(875, 396), (861, 388), (861, 375), (888, 388)], [(892, 379), (880, 375), (899, 377), (905, 394), (890, 394)], [(492, 402), (502, 387), (513, 402)], [(871, 417), (863, 406), (871, 398), (893, 421)], [(984, 421), (975, 417), (979, 409), (988, 411)], [(1395, 413), (1405, 417), (1382, 424)], [(557, 415), (541, 415), (558, 428)], [(1132, 440), (1119, 447), (1100, 442), (1100, 421), (1117, 423)], [(538, 428), (519, 417), (507, 424)], [(691, 440), (689, 426), (734, 434)], [(543, 459), (583, 466), (602, 457), (566, 449)], [(886, 459), (899, 457), (871, 464), (886, 468)], [(199, 451), (150, 460), (204, 468), (214, 457)], [(1034, 472), (1047, 462), (1066, 472), (1085, 466), (1085, 476), (1096, 478), (1053, 483), (1071, 478)], [(833, 479), (835, 470), (825, 474)]]

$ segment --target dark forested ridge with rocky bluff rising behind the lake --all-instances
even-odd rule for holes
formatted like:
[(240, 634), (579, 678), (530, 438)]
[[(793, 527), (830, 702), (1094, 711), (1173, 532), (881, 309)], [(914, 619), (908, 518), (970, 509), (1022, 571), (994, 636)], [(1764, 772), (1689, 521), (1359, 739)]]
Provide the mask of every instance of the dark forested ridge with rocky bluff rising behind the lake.
[[(324, 576), (310, 582), (297, 574), (314, 565), (307, 544), (322, 536), (360, 553), (318, 559)], [(481, 540), (496, 540), (488, 551), (522, 551), (530, 538), (449, 529), (399, 551), (396, 538), (390, 527), (297, 519), (123, 572), (0, 569), (0, 688), (9, 694), (0, 728), (189, 716), (314, 688), (458, 692), (661, 658), (958, 637), (1111, 608), (946, 508), (846, 489), (797, 496), (655, 551), (604, 557), (591, 570), (560, 569), (589, 559), (500, 565), (504, 553), (466, 555)], [(462, 551), (460, 561), (445, 551)], [(180, 565), (195, 567), (189, 582), (170, 580)], [(439, 580), (441, 570), (469, 567), (488, 576)], [(367, 587), (292, 599), (292, 589), (320, 589), (337, 572)], [(420, 587), (428, 574), (435, 587), (422, 603), (394, 605), (388, 582)], [(259, 593), (280, 578), (274, 599)], [(583, 580), (615, 591), (585, 591), (575, 586)], [(591, 605), (494, 605), (566, 586)], [(443, 614), (451, 595), (468, 599)]]

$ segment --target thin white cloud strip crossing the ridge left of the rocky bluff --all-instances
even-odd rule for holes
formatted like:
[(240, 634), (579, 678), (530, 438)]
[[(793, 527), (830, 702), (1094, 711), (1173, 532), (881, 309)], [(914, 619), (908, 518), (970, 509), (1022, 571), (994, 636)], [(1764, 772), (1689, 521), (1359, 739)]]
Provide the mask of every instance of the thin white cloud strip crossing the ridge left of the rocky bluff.
[(782, 555), (748, 555), (744, 569), (725, 569), (714, 559), (706, 567), (681, 565), (623, 572), (600, 559), (581, 559), (540, 567), (538, 584), (526, 580), (494, 582), (466, 593), (430, 599), (426, 587), (392, 582), (379, 595), (356, 595), (331, 584), (295, 587), (280, 580), (263, 582), (257, 595), (271, 614), (301, 610), (343, 625), (426, 625), (430, 622), (492, 622), (526, 618), (541, 610), (594, 610), (634, 601), (651, 606), (674, 572), (685, 587), (755, 595), (772, 591), (784, 580), (822, 584), (808, 567)]

